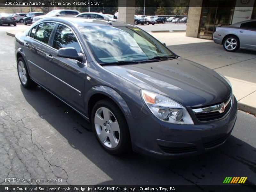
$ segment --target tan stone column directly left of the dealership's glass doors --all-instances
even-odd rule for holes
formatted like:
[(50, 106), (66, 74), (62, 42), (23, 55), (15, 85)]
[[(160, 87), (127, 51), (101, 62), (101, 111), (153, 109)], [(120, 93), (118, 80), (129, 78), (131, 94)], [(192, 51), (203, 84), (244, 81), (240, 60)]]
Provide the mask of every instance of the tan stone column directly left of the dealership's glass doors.
[(186, 36), (197, 37), (200, 25), (203, 0), (190, 0)]

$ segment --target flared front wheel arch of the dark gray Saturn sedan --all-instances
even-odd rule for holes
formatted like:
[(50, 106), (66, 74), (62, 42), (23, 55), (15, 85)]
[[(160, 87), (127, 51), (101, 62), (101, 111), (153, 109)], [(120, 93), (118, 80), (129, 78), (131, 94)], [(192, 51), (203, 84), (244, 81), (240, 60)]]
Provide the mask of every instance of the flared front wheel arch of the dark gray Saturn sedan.
[(95, 103), (99, 100), (102, 99), (110, 99), (116, 105), (120, 108), (120, 110), (123, 112), (124, 116), (126, 115), (131, 115), (131, 111), (123, 99), (123, 97), (116, 92), (114, 89), (104, 86), (104, 85), (97, 85), (92, 87), (88, 92), (87, 92), (87, 97), (85, 99), (85, 109), (87, 110), (87, 116), (89, 119), (91, 119), (91, 113), (92, 113), (92, 108), (95, 105)]

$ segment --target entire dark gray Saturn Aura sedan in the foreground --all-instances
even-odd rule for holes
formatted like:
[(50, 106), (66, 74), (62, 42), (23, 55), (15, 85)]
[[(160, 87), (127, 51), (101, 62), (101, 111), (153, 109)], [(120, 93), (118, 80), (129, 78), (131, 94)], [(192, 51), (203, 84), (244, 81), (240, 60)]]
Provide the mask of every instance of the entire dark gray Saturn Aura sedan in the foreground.
[(16, 35), (15, 58), (22, 86), (40, 85), (76, 110), (111, 154), (200, 154), (222, 145), (236, 121), (224, 76), (129, 24), (44, 18)]

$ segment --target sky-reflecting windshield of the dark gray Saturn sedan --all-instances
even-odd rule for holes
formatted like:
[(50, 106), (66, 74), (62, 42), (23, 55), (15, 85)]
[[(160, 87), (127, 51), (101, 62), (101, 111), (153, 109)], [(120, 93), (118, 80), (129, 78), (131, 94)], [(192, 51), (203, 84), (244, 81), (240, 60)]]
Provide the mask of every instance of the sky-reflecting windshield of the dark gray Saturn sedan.
[(157, 57), (175, 57), (164, 44), (136, 27), (79, 27), (95, 59), (103, 63), (139, 62)]

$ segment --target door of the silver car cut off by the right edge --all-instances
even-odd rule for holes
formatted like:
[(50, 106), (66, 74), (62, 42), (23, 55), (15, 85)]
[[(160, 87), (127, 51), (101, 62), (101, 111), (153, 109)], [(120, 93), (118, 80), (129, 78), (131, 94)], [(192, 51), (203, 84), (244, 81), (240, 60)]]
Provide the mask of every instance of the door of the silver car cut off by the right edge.
[(240, 47), (256, 50), (256, 21), (242, 23), (238, 29)]

